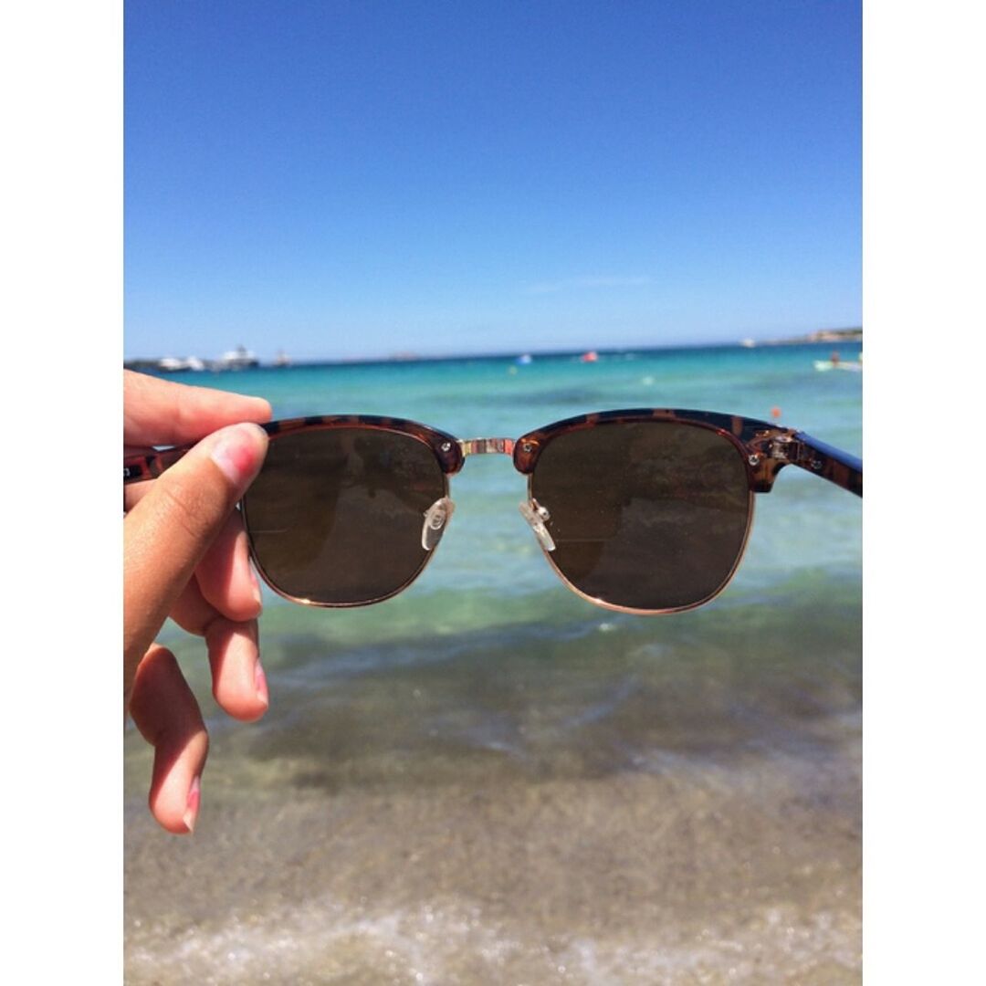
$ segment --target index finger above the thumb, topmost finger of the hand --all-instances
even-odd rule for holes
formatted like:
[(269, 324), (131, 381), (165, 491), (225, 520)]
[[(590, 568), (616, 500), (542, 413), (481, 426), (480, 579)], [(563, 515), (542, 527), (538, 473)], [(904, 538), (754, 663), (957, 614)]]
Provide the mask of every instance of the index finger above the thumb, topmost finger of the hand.
[(196, 442), (226, 425), (270, 420), (270, 404), (210, 387), (123, 371), (123, 441), (130, 446)]

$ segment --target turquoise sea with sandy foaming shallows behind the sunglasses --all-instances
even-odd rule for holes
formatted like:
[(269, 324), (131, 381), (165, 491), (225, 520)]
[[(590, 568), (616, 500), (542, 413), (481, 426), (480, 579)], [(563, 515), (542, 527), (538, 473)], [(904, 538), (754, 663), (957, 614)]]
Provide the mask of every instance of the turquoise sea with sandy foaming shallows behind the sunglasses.
[[(831, 348), (176, 379), (260, 394), (275, 417), (459, 438), (779, 408), (862, 455), (862, 374), (813, 367)], [(784, 469), (727, 590), (640, 617), (558, 581), (525, 489), (508, 458), (469, 458), (441, 546), (395, 599), (266, 594), (260, 723), (216, 708), (200, 642), (166, 627), (212, 745), (195, 835), (176, 839), (127, 733), (128, 981), (858, 981), (861, 501)]]

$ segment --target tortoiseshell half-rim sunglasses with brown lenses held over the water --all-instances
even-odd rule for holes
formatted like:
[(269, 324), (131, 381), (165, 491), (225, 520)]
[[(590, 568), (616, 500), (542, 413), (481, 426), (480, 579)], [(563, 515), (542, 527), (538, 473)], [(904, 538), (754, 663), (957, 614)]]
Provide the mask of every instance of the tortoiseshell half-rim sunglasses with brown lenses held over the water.
[[(804, 432), (710, 411), (602, 411), (519, 439), (459, 440), (414, 421), (328, 415), (273, 421), (240, 504), (250, 555), (280, 596), (316, 606), (390, 599), (421, 574), (453, 514), (469, 456), (512, 456), (521, 513), (562, 582), (607, 609), (669, 613), (714, 599), (785, 465), (863, 495), (862, 460)], [(151, 479), (191, 445), (125, 458)]]

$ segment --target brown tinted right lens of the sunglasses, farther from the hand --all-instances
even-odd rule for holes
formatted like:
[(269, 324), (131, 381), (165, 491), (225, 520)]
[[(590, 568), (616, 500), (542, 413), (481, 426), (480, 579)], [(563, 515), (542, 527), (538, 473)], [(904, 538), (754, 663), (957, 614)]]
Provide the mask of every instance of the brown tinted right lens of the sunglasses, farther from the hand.
[(559, 572), (592, 599), (677, 609), (715, 596), (752, 510), (740, 450), (680, 422), (602, 422), (541, 451), (530, 491), (547, 509)]

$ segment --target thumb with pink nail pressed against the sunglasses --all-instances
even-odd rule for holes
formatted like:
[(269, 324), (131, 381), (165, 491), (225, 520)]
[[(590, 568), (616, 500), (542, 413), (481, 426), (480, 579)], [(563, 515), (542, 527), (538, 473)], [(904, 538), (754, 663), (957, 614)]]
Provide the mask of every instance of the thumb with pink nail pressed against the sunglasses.
[(154, 481), (123, 521), (123, 670), (137, 664), (206, 549), (260, 469), (267, 435), (231, 425), (203, 439)]

